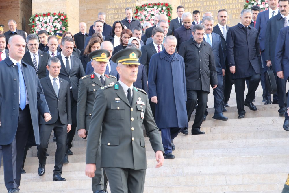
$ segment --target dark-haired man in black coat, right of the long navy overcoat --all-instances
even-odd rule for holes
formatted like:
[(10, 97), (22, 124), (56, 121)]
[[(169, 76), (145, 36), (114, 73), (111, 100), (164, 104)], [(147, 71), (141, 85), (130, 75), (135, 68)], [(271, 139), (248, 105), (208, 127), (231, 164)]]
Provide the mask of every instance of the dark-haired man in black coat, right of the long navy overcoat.
[(205, 132), (200, 131), (200, 128), (208, 102), (208, 93), (210, 93), (209, 84), (213, 89), (217, 88), (218, 78), (212, 47), (203, 41), (205, 35), (203, 25), (194, 25), (192, 35), (188, 41), (181, 43), (179, 55), (185, 61), (188, 121), (198, 104), (192, 126), (192, 135), (198, 135), (205, 134)]

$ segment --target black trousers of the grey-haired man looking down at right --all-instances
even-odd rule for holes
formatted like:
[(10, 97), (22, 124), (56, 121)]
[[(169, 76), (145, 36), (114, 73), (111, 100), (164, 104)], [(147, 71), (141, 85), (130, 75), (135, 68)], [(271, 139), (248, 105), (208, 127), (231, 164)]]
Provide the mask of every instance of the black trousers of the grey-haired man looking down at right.
[(244, 115), (245, 105), (244, 105), (244, 92), (245, 92), (245, 82), (249, 80), (249, 89), (246, 95), (246, 102), (253, 102), (256, 90), (259, 86), (260, 82), (260, 74), (254, 74), (253, 76), (249, 76), (247, 78), (237, 78), (235, 79), (235, 93), (237, 100), (237, 109), (239, 115)]

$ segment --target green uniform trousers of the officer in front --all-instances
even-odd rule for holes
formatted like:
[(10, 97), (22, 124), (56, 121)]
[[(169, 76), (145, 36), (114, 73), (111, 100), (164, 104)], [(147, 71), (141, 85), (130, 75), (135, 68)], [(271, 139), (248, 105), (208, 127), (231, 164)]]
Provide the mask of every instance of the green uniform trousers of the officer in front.
[(143, 193), (146, 170), (104, 168), (112, 193)]

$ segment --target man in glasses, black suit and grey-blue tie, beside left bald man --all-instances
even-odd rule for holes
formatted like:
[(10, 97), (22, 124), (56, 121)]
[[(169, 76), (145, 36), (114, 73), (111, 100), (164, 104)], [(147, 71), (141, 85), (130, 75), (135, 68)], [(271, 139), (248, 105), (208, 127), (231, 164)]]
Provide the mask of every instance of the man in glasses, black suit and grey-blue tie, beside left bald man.
[(51, 131), (54, 130), (56, 136), (57, 149), (55, 152), (55, 166), (53, 170), (53, 181), (65, 181), (61, 177), (62, 165), (66, 149), (66, 136), (71, 130), (71, 106), (69, 83), (59, 78), (61, 69), (60, 60), (56, 57), (49, 58), (47, 70), (49, 75), (40, 79), (44, 96), (51, 112), (52, 119), (45, 122), (39, 117), (39, 138), (38, 146), (38, 175), (43, 176), (45, 173), (46, 151), (49, 144)]

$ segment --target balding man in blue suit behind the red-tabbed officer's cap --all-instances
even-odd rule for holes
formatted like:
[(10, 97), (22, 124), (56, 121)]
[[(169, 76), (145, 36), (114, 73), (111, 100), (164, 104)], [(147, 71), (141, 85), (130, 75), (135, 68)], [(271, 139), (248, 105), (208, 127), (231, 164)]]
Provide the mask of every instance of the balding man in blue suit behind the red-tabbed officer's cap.
[[(100, 45), (100, 49), (105, 49), (107, 50), (108, 52), (110, 52), (110, 56), (108, 57), (108, 59), (111, 58), (111, 54), (112, 54), (112, 51), (113, 51), (113, 45), (110, 41), (103, 41)], [(119, 79), (119, 74), (116, 70), (116, 67), (117, 67), (117, 64), (112, 62), (112, 60), (108, 60), (108, 63), (106, 65), (106, 70), (105, 70), (105, 74), (110, 74), (112, 76), (115, 76), (117, 78), (117, 80)], [(88, 62), (86, 64), (86, 70), (85, 70), (85, 74), (88, 75), (88, 74), (91, 74), (93, 72), (93, 67), (91, 65), (91, 62)]]

